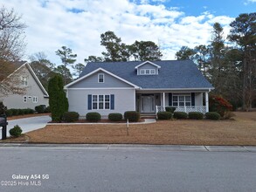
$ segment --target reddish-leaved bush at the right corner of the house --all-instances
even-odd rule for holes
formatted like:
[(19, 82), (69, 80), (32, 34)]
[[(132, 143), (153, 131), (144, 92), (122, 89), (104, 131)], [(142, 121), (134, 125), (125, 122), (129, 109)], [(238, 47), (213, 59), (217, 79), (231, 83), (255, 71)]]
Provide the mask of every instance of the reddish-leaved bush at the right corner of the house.
[(232, 111), (232, 105), (219, 95), (210, 95), (209, 97), (210, 112), (217, 112), (224, 117), (226, 112)]

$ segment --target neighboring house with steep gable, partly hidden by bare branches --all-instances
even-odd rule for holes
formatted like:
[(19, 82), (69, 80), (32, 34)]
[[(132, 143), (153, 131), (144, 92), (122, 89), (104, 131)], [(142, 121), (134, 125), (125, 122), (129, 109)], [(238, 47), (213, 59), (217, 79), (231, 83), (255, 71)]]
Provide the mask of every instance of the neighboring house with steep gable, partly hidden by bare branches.
[(49, 95), (45, 91), (44, 86), (40, 83), (35, 72), (31, 69), (26, 61), (16, 62), (16, 70), (12, 72), (8, 79), (20, 78), (15, 85), (20, 88), (24, 88), (24, 94), (8, 94), (0, 97), (3, 101), (3, 105), (7, 108), (31, 108), (35, 109), (35, 106), (45, 105), (49, 106)]

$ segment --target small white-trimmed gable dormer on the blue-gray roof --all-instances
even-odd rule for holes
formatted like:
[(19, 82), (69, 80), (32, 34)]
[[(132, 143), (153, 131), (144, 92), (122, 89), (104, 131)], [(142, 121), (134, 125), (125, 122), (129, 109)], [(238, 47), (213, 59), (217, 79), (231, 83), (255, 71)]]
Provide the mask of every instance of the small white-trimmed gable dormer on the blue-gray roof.
[(154, 64), (150, 61), (145, 61), (140, 65), (135, 66), (137, 70), (137, 75), (158, 75), (158, 71), (161, 66)]

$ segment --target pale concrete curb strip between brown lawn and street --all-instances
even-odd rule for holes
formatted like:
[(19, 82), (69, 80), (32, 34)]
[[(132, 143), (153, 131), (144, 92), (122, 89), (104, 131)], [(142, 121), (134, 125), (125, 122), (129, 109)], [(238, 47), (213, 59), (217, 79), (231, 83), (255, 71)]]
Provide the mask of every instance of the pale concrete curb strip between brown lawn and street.
[(138, 151), (197, 151), (197, 152), (244, 152), (256, 153), (254, 146), (184, 146), (184, 145), (134, 145), (134, 144), (29, 144), (0, 143), (0, 148), (59, 148), (59, 149), (93, 149), (93, 150), (138, 150)]

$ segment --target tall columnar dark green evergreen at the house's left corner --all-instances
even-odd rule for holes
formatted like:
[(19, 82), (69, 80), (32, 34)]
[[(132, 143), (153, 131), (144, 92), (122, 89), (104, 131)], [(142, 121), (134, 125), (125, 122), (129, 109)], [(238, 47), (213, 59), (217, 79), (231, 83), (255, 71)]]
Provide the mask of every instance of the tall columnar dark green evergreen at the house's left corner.
[(54, 76), (49, 80), (48, 90), (52, 120), (60, 121), (68, 110), (68, 101), (63, 90), (63, 79), (59, 75)]

